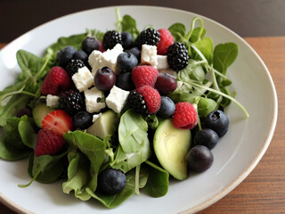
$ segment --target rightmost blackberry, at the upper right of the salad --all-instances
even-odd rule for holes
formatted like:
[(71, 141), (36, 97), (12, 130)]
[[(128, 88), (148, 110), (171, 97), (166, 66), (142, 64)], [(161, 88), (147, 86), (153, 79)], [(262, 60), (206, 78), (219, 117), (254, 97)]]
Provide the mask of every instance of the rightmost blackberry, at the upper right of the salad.
[(188, 65), (189, 53), (183, 43), (170, 45), (167, 50), (167, 61), (173, 70), (183, 70)]

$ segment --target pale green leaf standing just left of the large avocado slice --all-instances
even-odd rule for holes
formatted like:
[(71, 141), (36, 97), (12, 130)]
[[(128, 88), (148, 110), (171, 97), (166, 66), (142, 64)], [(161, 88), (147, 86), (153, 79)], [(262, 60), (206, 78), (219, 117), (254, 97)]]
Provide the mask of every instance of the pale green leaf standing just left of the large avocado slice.
[(110, 163), (114, 169), (125, 173), (151, 157), (151, 145), (147, 134), (147, 122), (132, 109), (126, 111), (118, 125), (119, 145), (115, 160)]

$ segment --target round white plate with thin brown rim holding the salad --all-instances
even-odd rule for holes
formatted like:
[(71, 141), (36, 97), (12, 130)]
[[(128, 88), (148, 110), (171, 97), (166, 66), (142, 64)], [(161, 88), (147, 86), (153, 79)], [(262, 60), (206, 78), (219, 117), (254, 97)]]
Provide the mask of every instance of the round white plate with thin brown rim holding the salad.
[[(190, 28), (197, 14), (162, 7), (121, 6), (121, 15), (130, 14), (138, 29), (152, 24), (154, 28), (168, 28), (183, 22)], [(42, 185), (34, 182), (21, 189), (18, 184), (30, 180), (27, 161), (0, 161), (0, 198), (20, 213), (192, 213), (202, 210), (229, 193), (248, 176), (264, 155), (273, 137), (277, 119), (277, 97), (273, 80), (256, 52), (230, 29), (202, 17), (207, 36), (215, 44), (234, 42), (240, 46), (239, 56), (228, 70), (233, 80), (236, 99), (248, 110), (250, 117), (231, 104), (227, 109), (230, 130), (213, 150), (215, 161), (208, 171), (191, 176), (183, 182), (171, 182), (166, 196), (151, 198), (142, 193), (134, 195), (118, 208), (108, 210), (98, 202), (81, 202), (72, 194), (61, 192), (61, 183)], [(0, 89), (12, 84), (19, 73), (15, 53), (25, 49), (42, 54), (47, 45), (61, 36), (85, 32), (85, 29), (114, 29), (115, 8), (99, 8), (77, 12), (50, 21), (6, 45), (0, 53)]]

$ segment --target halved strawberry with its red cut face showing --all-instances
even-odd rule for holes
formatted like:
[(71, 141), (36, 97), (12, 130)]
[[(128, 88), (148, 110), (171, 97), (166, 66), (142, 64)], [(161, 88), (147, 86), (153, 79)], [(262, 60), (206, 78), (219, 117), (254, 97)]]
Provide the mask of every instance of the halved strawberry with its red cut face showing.
[(72, 128), (72, 118), (63, 110), (55, 110), (48, 113), (42, 121), (42, 128), (52, 131), (56, 135), (63, 136)]

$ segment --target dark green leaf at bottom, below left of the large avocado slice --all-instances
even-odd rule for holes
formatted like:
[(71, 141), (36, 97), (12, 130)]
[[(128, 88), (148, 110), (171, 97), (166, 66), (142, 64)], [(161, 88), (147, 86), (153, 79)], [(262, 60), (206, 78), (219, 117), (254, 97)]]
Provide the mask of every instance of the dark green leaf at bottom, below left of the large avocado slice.
[(151, 161), (145, 161), (143, 165), (149, 172), (149, 177), (144, 189), (151, 197), (161, 197), (167, 194), (169, 174), (165, 169)]

